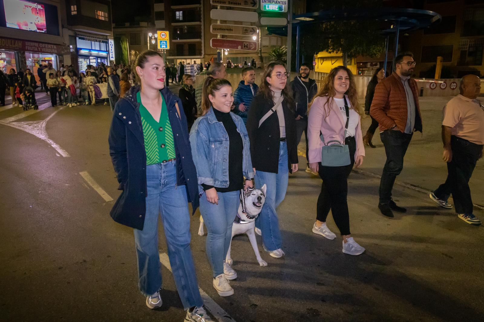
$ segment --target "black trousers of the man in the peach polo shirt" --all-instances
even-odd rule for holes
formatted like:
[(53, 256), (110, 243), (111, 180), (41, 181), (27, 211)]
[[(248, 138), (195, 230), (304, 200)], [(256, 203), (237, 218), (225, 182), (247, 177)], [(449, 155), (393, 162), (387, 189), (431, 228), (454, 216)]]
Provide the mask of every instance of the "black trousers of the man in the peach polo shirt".
[(447, 162), (447, 179), (434, 195), (442, 200), (454, 198), (455, 212), (472, 214), (473, 203), (470, 196), (469, 179), (483, 150), (483, 145), (469, 142), (457, 136), (451, 136), (452, 161)]

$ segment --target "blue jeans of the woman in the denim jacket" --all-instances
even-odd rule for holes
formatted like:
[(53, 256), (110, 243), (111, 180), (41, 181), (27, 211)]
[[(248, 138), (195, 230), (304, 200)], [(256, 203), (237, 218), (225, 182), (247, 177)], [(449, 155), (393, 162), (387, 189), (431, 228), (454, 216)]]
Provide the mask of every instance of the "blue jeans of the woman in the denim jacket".
[(232, 238), (232, 223), (240, 204), (240, 191), (217, 192), (218, 205), (200, 197), (200, 214), (207, 226), (206, 252), (213, 277), (224, 273), (224, 261)]

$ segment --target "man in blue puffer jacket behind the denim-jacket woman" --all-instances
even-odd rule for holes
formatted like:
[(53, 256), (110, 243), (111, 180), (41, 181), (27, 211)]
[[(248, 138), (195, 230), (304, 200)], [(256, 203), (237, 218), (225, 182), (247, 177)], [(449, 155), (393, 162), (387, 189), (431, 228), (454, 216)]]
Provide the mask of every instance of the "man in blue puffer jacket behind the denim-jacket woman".
[(259, 89), (255, 84), (256, 71), (254, 67), (242, 69), (242, 78), (243, 80), (234, 92), (234, 113), (242, 117), (243, 124), (247, 124), (247, 113), (249, 112), (250, 103), (254, 95), (256, 95), (257, 89)]

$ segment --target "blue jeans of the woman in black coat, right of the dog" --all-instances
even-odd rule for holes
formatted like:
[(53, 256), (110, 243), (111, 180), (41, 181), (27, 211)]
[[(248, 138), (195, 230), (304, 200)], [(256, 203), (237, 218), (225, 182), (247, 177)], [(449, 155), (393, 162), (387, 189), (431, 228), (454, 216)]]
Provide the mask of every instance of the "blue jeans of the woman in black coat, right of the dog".
[(256, 219), (256, 227), (262, 231), (264, 249), (271, 251), (282, 248), (282, 237), (279, 229), (279, 219), (275, 208), (284, 200), (289, 179), (287, 168), (287, 145), (281, 142), (279, 146), (279, 167), (277, 173), (257, 171), (256, 188), (267, 186), (266, 203)]

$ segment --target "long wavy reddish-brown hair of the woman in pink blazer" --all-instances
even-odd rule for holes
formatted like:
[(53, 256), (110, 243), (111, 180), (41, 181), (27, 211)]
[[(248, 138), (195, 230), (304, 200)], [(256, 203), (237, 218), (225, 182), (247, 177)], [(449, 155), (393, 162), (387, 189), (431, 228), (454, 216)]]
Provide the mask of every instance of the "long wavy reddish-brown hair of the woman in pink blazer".
[(351, 103), (351, 106), (349, 108), (355, 110), (360, 116), (363, 116), (363, 111), (360, 109), (360, 103), (358, 102), (358, 94), (356, 92), (356, 87), (355, 87), (355, 78), (351, 73), (351, 71), (345, 66), (334, 67), (330, 71), (328, 76), (324, 78), (321, 88), (319, 88), (318, 93), (314, 96), (313, 100), (307, 107), (308, 114), (309, 114), (309, 110), (311, 109), (311, 106), (313, 105), (314, 100), (317, 97), (326, 96), (328, 97), (328, 100), (326, 101), (326, 103), (324, 103), (324, 108), (326, 112), (326, 117), (328, 117), (331, 111), (331, 105), (334, 102), (334, 96), (336, 95), (336, 90), (334, 89), (334, 79), (336, 78), (336, 74), (339, 71), (345, 71), (346, 73), (348, 73), (349, 86), (345, 94), (348, 96), (349, 102)]

